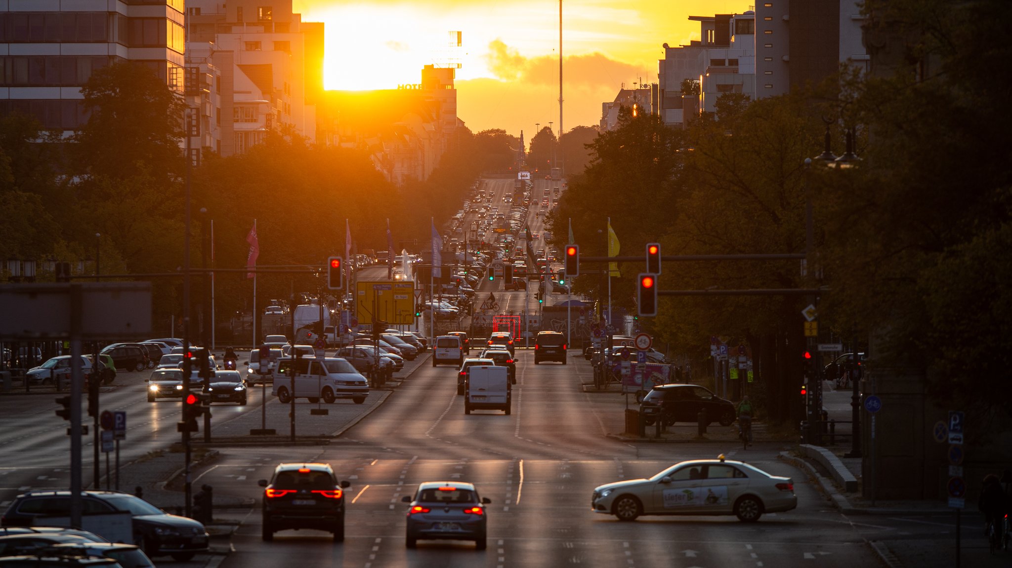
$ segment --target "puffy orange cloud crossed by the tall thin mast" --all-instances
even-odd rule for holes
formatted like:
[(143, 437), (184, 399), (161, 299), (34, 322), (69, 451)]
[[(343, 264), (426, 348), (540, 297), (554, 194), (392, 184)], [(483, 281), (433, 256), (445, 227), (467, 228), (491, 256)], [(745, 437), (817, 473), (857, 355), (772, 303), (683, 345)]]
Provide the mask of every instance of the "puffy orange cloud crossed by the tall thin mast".
[[(489, 43), (485, 56), (489, 71), (503, 81), (524, 81), (532, 85), (559, 84), (559, 57), (539, 56), (526, 58), (501, 39)], [(569, 56), (563, 61), (566, 83), (586, 87), (609, 85), (618, 88), (622, 83), (656, 81), (657, 69), (646, 69), (609, 59), (600, 53)]]

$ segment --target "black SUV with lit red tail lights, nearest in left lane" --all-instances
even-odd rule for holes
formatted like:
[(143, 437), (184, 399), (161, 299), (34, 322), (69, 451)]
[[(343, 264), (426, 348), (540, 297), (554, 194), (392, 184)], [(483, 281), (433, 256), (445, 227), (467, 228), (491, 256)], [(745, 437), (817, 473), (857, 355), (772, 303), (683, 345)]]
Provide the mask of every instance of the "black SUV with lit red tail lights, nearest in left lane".
[(335, 543), (344, 541), (344, 489), (351, 484), (338, 483), (330, 464), (280, 464), (260, 486), (264, 541), (285, 529), (329, 531)]

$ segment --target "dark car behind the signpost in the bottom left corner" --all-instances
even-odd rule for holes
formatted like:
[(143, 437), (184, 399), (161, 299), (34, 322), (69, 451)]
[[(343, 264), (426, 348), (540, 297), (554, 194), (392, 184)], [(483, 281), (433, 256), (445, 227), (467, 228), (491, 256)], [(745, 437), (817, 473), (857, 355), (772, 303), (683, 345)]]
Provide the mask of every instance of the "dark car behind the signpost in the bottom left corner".
[[(129, 511), (133, 516), (134, 544), (148, 556), (170, 555), (185, 562), (207, 551), (203, 525), (169, 514), (148, 501), (119, 491), (83, 491), (84, 510), (89, 513)], [(70, 515), (70, 491), (29, 491), (14, 497), (0, 517), (4, 527), (45, 525), (47, 516)]]

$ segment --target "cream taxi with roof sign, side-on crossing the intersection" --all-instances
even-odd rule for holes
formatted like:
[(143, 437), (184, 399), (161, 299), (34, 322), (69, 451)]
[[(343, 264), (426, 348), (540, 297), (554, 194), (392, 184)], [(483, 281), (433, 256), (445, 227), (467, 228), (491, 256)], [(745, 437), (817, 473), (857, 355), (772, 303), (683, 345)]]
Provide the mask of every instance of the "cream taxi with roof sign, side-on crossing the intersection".
[(794, 481), (745, 462), (689, 460), (647, 479), (594, 488), (591, 509), (636, 520), (644, 514), (734, 514), (744, 523), (797, 507)]

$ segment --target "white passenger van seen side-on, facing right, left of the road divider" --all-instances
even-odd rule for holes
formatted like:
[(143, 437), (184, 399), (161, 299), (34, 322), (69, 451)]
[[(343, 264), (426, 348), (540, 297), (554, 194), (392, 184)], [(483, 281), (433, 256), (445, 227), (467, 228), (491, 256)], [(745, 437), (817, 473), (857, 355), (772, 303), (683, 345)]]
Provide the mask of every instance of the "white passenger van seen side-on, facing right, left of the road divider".
[[(293, 394), (292, 374), (296, 378)], [(292, 396), (308, 398), (310, 402), (322, 398), (328, 404), (337, 398), (351, 398), (355, 404), (361, 404), (369, 395), (369, 382), (344, 359), (285, 358), (277, 362), (270, 393), (282, 404), (290, 402)]]

